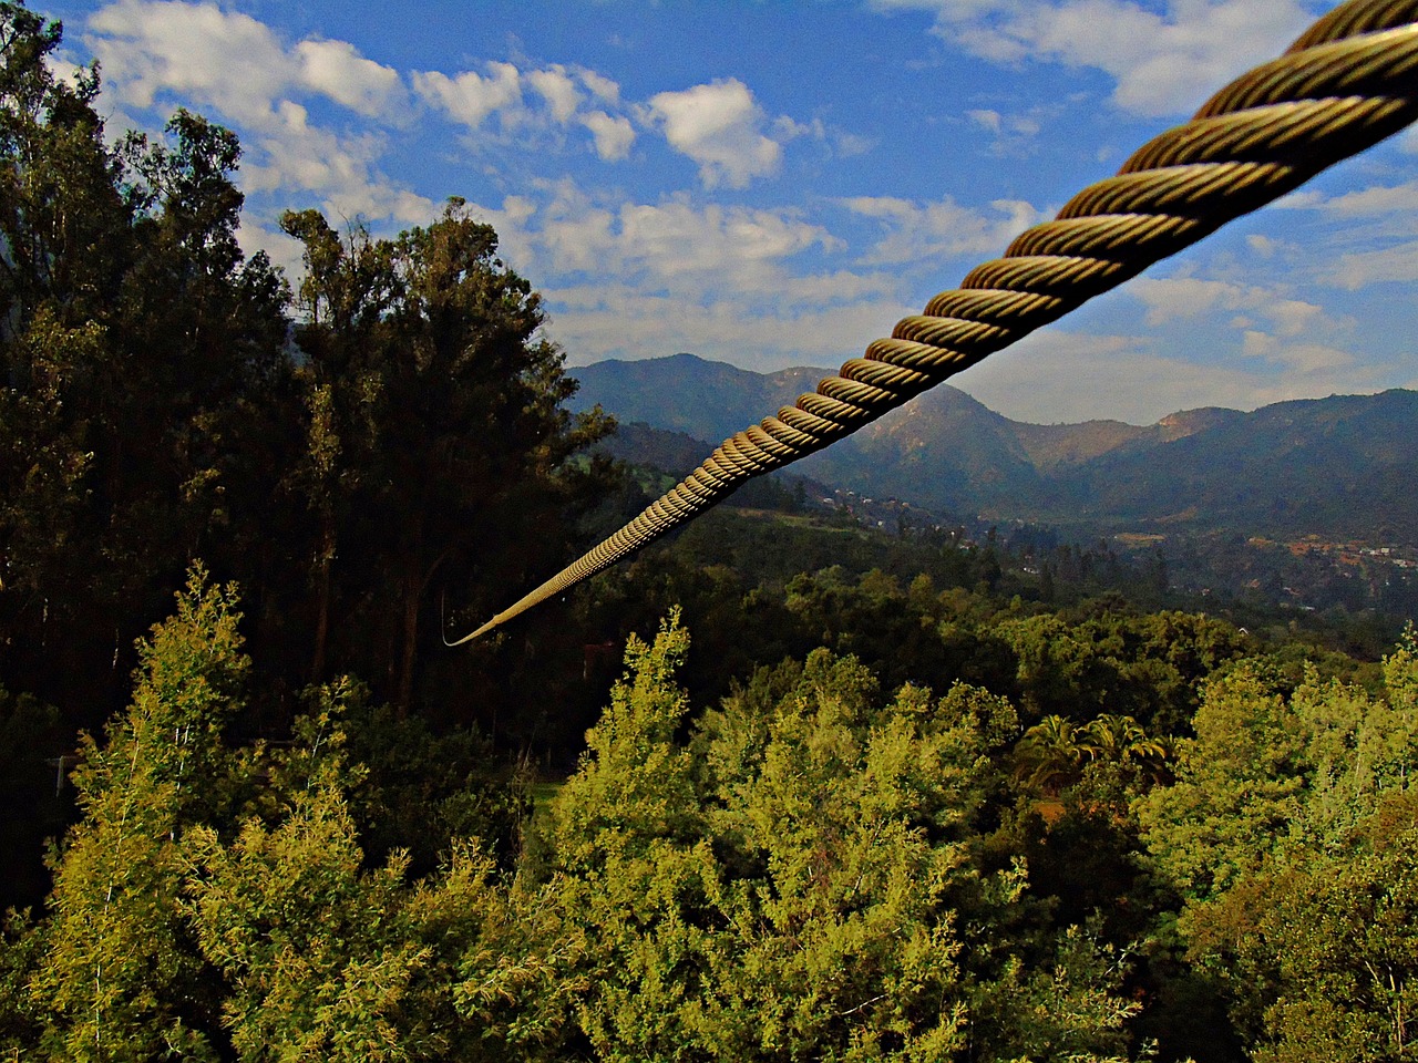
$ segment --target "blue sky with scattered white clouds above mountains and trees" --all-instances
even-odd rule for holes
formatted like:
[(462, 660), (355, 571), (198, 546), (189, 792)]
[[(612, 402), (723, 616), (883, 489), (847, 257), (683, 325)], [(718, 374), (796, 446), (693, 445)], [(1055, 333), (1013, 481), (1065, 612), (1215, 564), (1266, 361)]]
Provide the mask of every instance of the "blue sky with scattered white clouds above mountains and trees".
[[(493, 224), (577, 366), (835, 367), (1282, 51), (1310, 0), (64, 0), (111, 132), (187, 106), (285, 208)], [(1018, 420), (1418, 386), (1400, 135), (954, 378)], [(770, 412), (770, 411), (764, 411)]]

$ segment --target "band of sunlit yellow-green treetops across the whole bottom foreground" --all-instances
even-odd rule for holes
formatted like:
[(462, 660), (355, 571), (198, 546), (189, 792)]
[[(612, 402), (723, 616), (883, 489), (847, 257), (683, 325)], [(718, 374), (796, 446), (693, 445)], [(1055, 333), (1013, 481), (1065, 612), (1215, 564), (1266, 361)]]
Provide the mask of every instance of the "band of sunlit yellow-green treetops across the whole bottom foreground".
[(84, 740), (47, 909), (6, 930), (11, 1054), (1407, 1057), (1412, 635), (1374, 692), (1222, 662), (1178, 737), (828, 649), (696, 709), (671, 615), (566, 784), (527, 818), (469, 777), (451, 829), (406, 823), (415, 870), (362, 838), (401, 785), (370, 734), (418, 731), (343, 680), (233, 744), (240, 626), (193, 573)]

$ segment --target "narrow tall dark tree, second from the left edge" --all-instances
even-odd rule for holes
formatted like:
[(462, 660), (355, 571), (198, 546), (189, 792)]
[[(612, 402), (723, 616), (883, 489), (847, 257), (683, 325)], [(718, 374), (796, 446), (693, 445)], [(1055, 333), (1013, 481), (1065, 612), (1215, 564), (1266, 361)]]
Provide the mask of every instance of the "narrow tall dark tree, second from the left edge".
[(288, 292), (237, 244), (233, 133), (179, 111), (164, 137), (129, 136), (133, 255), (109, 329), (123, 403), (101, 485), (113, 485), (108, 551), (159, 608), (193, 557), (259, 592), (269, 499), (295, 449)]

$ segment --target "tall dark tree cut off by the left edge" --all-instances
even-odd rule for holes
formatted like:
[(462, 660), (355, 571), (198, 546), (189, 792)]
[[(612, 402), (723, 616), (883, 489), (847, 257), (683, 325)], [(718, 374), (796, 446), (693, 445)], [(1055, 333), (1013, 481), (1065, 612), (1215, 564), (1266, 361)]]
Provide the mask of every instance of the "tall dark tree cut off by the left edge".
[[(126, 206), (94, 112), (95, 71), (58, 78), (61, 27), (0, 3), (0, 651), (54, 642), (82, 588), (94, 463), (78, 394), (109, 357), (89, 316), (113, 293)], [(51, 605), (54, 607), (51, 609)]]

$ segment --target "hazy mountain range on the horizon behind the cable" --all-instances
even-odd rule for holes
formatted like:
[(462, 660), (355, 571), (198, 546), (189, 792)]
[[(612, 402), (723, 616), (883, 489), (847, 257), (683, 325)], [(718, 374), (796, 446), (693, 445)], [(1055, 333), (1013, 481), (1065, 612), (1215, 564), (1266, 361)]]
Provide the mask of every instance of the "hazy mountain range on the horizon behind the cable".
[[(675, 432), (699, 456), (832, 370), (760, 374), (693, 354), (571, 370), (577, 407)], [(686, 441), (686, 437), (689, 438)], [(654, 435), (638, 428), (637, 446)], [(664, 441), (661, 441), (664, 442)], [(627, 455), (621, 451), (621, 456)], [(1153, 425), (1037, 425), (940, 386), (793, 472), (936, 512), (1098, 532), (1236, 530), (1418, 541), (1418, 393), (1333, 395)]]

